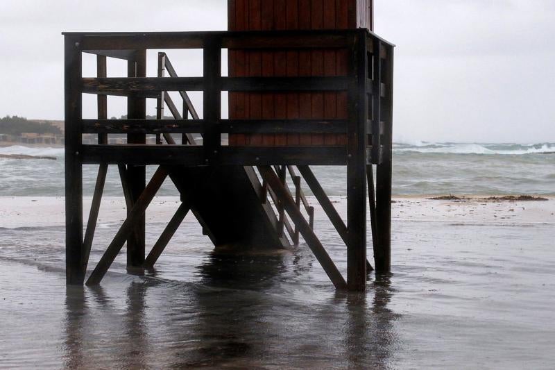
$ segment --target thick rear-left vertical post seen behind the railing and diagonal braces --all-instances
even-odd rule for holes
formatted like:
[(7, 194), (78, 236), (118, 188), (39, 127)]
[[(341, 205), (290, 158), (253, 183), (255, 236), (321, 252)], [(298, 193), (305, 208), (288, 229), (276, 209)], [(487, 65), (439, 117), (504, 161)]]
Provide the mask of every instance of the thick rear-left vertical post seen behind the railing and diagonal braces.
[[(135, 58), (128, 60), (128, 76), (129, 77), (146, 77), (146, 50), (135, 51)], [(127, 101), (127, 112), (129, 118), (144, 119), (146, 117), (146, 99), (138, 97), (129, 97)], [(144, 134), (128, 134), (127, 141), (129, 144), (145, 144), (146, 135)], [(137, 202), (139, 196), (144, 191), (146, 171), (144, 166), (128, 166), (127, 178), (133, 204)], [(131, 212), (128, 209), (128, 214)], [(133, 233), (127, 240), (127, 266), (142, 267), (144, 262), (144, 235), (145, 235), (145, 217), (142, 217), (135, 223)]]

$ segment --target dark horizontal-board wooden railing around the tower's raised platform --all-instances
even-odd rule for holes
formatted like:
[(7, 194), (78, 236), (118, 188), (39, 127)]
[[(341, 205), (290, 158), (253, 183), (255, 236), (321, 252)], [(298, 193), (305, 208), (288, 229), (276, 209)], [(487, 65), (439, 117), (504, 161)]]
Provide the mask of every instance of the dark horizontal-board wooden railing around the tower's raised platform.
[[(391, 151), (393, 45), (366, 30), (257, 31), (203, 33), (65, 33), (66, 143), (83, 164), (126, 162), (133, 165), (348, 165), (362, 155), (366, 163), (382, 162)], [(222, 49), (349, 49), (347, 76), (225, 77)], [(81, 76), (81, 53), (130, 60), (146, 49), (203, 49), (203, 76), (178, 77), (164, 53), (156, 77), (96, 78)], [(169, 76), (164, 76), (168, 72)], [(177, 91), (183, 114), (164, 92)], [(188, 91), (203, 92), (203, 118), (191, 108)], [(348, 93), (347, 119), (223, 119), (221, 92)], [(175, 119), (82, 119), (81, 94), (119, 95), (162, 101)], [(186, 114), (187, 113), (187, 114)], [(189, 119), (189, 114), (191, 115)], [(181, 144), (85, 145), (83, 133), (182, 134)], [(196, 145), (193, 133), (203, 135)], [(346, 145), (226, 146), (223, 133), (341, 133)], [(193, 144), (193, 145), (190, 145)], [(366, 148), (364, 153), (361, 151)]]

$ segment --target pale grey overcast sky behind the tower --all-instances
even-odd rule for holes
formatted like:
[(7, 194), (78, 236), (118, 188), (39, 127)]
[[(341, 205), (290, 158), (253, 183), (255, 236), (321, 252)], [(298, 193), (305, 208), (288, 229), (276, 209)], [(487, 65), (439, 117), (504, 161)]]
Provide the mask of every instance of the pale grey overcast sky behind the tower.
[[(375, 32), (397, 45), (395, 140), (555, 142), (554, 0), (375, 0), (375, 8)], [(225, 0), (0, 0), (0, 116), (63, 119), (62, 31), (224, 30), (226, 11)], [(187, 60), (180, 75), (198, 75), (199, 57), (172, 59)], [(94, 76), (93, 60), (84, 74)], [(109, 115), (122, 114), (114, 99)], [(94, 99), (84, 103), (92, 115)]]

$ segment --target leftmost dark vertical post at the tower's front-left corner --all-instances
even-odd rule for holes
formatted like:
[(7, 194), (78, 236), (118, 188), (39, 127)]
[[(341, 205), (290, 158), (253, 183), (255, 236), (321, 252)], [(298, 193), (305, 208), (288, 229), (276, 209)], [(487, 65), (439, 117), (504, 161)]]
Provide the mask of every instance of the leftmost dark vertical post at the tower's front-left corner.
[(67, 284), (78, 285), (85, 280), (80, 43), (80, 37), (65, 36), (65, 275)]

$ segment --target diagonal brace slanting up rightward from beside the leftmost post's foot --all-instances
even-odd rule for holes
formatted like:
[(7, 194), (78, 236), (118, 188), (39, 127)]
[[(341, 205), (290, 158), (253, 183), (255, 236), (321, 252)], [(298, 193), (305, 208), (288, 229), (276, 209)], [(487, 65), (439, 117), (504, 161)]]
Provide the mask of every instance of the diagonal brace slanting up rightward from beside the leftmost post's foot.
[(151, 181), (148, 185), (146, 185), (144, 192), (137, 198), (137, 201), (135, 201), (133, 208), (127, 215), (127, 219), (123, 221), (123, 224), (120, 226), (116, 236), (108, 246), (108, 249), (104, 252), (99, 264), (97, 264), (92, 271), (91, 276), (89, 276), (89, 279), (87, 280), (87, 285), (97, 285), (101, 282), (102, 278), (106, 274), (106, 271), (108, 271), (112, 262), (114, 262), (119, 251), (121, 251), (123, 243), (125, 243), (126, 239), (128, 239), (133, 233), (133, 229), (137, 223), (140, 224), (144, 219), (144, 212), (146, 211), (146, 208), (153, 200), (156, 192), (160, 189), (160, 186), (162, 186), (162, 183), (164, 183), (167, 176), (167, 171), (162, 167), (158, 167), (152, 176)]

